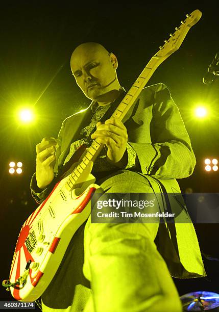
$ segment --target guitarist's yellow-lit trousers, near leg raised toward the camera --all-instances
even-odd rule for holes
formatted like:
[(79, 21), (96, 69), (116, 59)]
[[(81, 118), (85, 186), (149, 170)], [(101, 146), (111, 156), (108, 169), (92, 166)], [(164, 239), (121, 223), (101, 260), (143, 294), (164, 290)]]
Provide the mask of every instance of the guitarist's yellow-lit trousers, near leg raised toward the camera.
[[(151, 193), (148, 180), (122, 171), (99, 181), (110, 193)], [(154, 242), (159, 223), (91, 223), (72, 238), (42, 295), (45, 312), (180, 312), (181, 302)]]

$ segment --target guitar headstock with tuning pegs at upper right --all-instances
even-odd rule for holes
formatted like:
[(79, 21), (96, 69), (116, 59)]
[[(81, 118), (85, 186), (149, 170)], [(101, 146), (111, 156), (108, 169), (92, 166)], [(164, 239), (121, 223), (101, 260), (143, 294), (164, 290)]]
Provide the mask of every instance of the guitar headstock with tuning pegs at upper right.
[(202, 16), (202, 12), (194, 10), (191, 14), (186, 15), (186, 19), (181, 21), (181, 25), (175, 28), (175, 33), (170, 34), (170, 38), (165, 40), (165, 44), (160, 46), (160, 50), (155, 56), (166, 59), (181, 46), (189, 29), (196, 24)]

